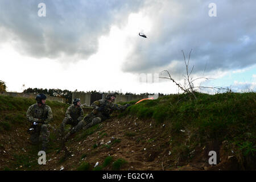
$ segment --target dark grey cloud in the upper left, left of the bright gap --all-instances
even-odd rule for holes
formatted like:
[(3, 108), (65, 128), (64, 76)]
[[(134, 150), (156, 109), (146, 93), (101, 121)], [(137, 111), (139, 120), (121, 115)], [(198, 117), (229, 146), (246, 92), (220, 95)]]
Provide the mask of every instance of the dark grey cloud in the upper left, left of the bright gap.
[[(46, 17), (38, 4), (46, 4)], [(141, 1), (0, 1), (0, 44), (32, 57), (86, 59), (97, 52), (98, 38), (122, 26)]]

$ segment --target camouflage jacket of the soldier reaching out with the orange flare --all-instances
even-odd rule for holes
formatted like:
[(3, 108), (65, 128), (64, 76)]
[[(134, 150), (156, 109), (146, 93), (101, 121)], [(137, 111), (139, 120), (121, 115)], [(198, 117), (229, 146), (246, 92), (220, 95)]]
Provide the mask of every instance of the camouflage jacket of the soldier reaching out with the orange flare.
[(126, 105), (113, 104), (107, 100), (98, 100), (94, 101), (92, 104), (94, 115), (101, 117), (104, 115), (105, 117), (109, 117), (109, 115), (113, 112), (113, 110), (125, 110)]

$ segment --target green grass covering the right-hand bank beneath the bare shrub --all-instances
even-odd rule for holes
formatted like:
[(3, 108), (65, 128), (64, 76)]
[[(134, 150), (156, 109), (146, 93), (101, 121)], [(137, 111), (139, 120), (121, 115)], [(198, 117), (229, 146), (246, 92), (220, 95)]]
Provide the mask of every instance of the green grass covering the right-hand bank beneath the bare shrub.
[[(128, 107), (119, 117), (152, 119), (156, 127), (168, 123), (163, 131), (172, 135), (170, 147), (174, 158), (189, 159), (189, 152), (210, 141), (218, 143), (228, 140), (233, 143), (236, 154), (256, 156), (256, 93), (196, 93), (197, 100), (186, 94), (173, 94), (159, 97), (158, 100), (145, 100)], [(181, 132), (180, 130), (185, 130)], [(135, 134), (126, 132), (127, 137)], [(189, 140), (188, 140), (189, 139)], [(150, 141), (147, 141), (150, 142)], [(176, 156), (175, 156), (176, 155)]]

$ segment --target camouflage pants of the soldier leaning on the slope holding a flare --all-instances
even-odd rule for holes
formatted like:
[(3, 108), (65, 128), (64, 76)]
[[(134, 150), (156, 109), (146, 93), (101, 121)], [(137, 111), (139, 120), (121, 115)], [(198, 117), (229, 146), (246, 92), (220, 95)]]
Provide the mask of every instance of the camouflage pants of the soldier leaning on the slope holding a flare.
[(81, 129), (88, 129), (89, 127), (101, 123), (104, 120), (105, 118), (96, 117), (94, 114), (88, 114), (86, 117), (84, 117), (84, 119), (82, 119), (82, 121), (80, 121), (75, 127), (71, 129), (71, 133), (76, 133)]

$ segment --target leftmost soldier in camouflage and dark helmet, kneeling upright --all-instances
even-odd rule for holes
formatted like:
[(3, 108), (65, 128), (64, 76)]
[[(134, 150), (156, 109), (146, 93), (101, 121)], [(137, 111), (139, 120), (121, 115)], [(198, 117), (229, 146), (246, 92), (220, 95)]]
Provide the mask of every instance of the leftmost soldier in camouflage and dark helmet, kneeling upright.
[(42, 141), (42, 150), (46, 151), (49, 142), (49, 122), (52, 120), (52, 110), (51, 107), (46, 105), (45, 94), (38, 94), (36, 102), (36, 104), (28, 107), (27, 110), (27, 121), (34, 128), (30, 140), (32, 144)]

